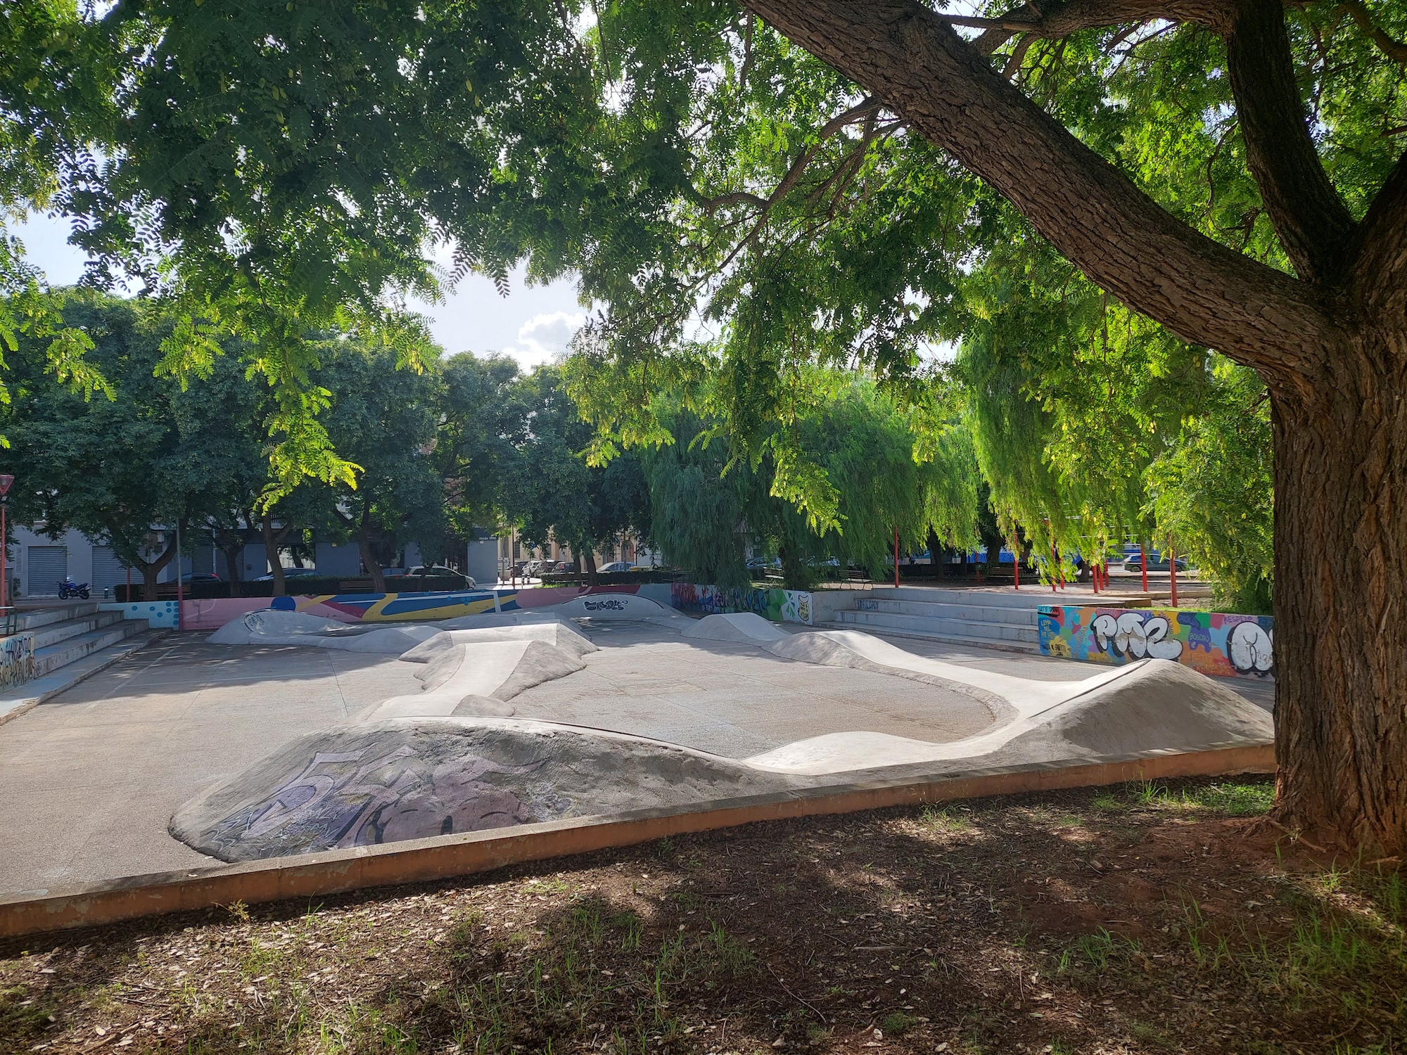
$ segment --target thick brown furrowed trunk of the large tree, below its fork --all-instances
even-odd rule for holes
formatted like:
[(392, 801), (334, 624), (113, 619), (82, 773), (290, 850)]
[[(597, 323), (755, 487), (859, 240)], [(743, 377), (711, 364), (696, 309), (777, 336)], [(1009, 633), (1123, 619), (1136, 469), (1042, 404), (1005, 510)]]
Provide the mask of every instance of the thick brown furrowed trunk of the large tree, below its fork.
[(1407, 335), (1361, 335), (1275, 399), (1280, 820), (1407, 851)]

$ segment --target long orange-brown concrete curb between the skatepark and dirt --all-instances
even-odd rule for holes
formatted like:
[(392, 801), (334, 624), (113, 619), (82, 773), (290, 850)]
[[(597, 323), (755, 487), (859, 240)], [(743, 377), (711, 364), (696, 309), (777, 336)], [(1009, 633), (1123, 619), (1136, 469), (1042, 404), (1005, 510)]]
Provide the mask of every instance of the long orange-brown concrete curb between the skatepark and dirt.
[(573, 817), (515, 829), (438, 836), (324, 854), (270, 858), (180, 872), (158, 872), (53, 890), (42, 897), (0, 897), (0, 938), (96, 927), (170, 912), (243, 902), (318, 897), (374, 886), (449, 879), (504, 865), (649, 843), (765, 820), (857, 813), (988, 795), (1055, 791), (1169, 776), (1273, 772), (1273, 744), (1225, 744), (1202, 751), (1147, 753), (974, 769), (937, 779), (857, 781), (704, 803), (688, 812), (636, 810)]

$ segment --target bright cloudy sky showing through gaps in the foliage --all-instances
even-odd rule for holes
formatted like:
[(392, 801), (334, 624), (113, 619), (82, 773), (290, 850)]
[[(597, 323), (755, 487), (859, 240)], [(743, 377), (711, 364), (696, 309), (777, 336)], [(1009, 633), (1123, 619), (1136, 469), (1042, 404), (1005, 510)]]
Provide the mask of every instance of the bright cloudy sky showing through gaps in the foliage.
[[(10, 231), (24, 242), (25, 257), (44, 270), (51, 286), (72, 286), (83, 274), (87, 256), (68, 243), (66, 219), (31, 215)], [(412, 301), (409, 307), (429, 318), (431, 332), (446, 353), (502, 352), (530, 370), (567, 347), (587, 312), (577, 302), (573, 281), (528, 286), (519, 269), (509, 276), (509, 294), (501, 297), (490, 279), (471, 274), (443, 304)]]

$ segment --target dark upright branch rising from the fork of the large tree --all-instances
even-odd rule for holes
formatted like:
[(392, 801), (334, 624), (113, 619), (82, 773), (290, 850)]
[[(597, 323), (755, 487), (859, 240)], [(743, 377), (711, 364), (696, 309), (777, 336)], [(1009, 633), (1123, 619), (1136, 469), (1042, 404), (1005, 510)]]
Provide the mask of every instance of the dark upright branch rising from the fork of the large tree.
[(1280, 0), (1242, 0), (1225, 41), (1247, 163), (1265, 211), (1299, 276), (1334, 281), (1354, 217), (1310, 138)]

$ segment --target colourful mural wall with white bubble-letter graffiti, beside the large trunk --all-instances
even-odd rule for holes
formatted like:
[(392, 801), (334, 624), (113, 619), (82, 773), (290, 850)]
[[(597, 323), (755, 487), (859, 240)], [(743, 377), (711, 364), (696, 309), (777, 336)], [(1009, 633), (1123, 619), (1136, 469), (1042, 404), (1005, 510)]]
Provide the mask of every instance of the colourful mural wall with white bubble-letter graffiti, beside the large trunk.
[(1217, 678), (1275, 675), (1275, 620), (1180, 608), (1041, 605), (1041, 654), (1085, 663), (1176, 660)]

